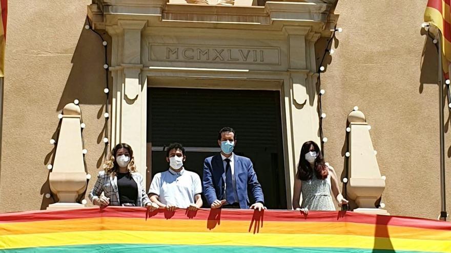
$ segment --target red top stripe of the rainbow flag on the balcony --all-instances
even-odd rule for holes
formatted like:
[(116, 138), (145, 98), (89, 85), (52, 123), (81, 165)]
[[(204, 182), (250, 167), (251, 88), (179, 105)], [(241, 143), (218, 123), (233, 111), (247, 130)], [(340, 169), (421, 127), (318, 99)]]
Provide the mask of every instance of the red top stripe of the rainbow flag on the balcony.
[[(253, 220), (279, 221), (279, 222), (352, 222), (363, 224), (392, 225), (403, 227), (418, 227), (427, 229), (439, 229), (451, 231), (451, 223), (428, 220), (421, 218), (409, 218), (400, 216), (384, 216), (360, 214), (354, 212), (330, 211), (309, 212), (303, 216), (299, 211), (267, 210), (257, 212), (253, 210), (233, 209), (201, 209), (194, 213), (194, 217), (187, 215), (186, 210), (177, 210), (171, 213), (167, 210), (158, 210), (146, 218), (145, 208), (124, 208), (121, 206), (109, 206), (105, 209), (85, 208), (77, 210), (60, 211), (29, 211), (22, 213), (0, 214), (0, 229), (2, 223), (46, 221), (46, 220), (70, 220), (83, 218), (117, 217), (117, 218), (139, 218), (139, 219), (173, 219), (173, 220), (202, 220), (207, 227), (209, 222), (216, 221), (248, 221)], [(295, 223), (293, 223), (295, 222)], [(287, 223), (289, 224), (289, 223)], [(298, 223), (299, 224), (299, 223)], [(299, 224), (301, 225), (301, 224)]]

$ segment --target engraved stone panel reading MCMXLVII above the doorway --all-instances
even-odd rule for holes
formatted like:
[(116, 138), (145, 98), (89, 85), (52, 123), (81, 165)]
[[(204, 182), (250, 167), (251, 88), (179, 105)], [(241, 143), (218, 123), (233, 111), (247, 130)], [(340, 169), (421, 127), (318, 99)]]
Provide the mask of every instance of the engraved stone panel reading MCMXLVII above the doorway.
[(275, 47), (150, 44), (149, 48), (150, 61), (280, 65), (280, 49)]

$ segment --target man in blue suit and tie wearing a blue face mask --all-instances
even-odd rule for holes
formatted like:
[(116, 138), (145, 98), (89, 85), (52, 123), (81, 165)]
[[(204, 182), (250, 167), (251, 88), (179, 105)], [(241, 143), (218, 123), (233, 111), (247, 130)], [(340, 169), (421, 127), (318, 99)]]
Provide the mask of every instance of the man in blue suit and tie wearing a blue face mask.
[(233, 153), (236, 134), (224, 127), (218, 134), (221, 153), (207, 157), (203, 162), (203, 193), (212, 209), (249, 208), (248, 190), (254, 196), (251, 209), (264, 207), (263, 191), (257, 180), (251, 159)]

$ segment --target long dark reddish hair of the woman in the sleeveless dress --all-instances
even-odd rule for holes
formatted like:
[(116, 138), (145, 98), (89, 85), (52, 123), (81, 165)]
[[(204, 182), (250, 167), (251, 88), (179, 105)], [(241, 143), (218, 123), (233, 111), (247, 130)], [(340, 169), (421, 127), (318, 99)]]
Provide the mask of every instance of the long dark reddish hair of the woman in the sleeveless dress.
[[(305, 154), (310, 152), (310, 147), (312, 146), (314, 151), (318, 154), (313, 166), (314, 170), (312, 170), (310, 163), (305, 160)], [(318, 179), (325, 179), (327, 178), (327, 175), (329, 175), (329, 171), (324, 164), (324, 158), (318, 145), (314, 141), (308, 141), (302, 145), (296, 177), (300, 180), (310, 180), (312, 179), (313, 173), (315, 173)]]

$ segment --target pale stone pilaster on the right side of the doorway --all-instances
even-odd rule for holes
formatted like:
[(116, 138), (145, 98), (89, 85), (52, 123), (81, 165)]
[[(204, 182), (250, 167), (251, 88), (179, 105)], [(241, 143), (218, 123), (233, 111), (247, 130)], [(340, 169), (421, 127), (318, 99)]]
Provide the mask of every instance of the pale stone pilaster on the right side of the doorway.
[[(284, 84), (285, 107), (289, 109), (287, 123), (290, 124), (292, 157), (290, 161), (290, 186), (287, 185), (287, 200), (291, 207), (292, 189), (301, 146), (306, 141), (320, 145), (319, 116), (317, 111), (317, 74), (314, 42), (319, 35), (309, 34), (310, 28), (284, 27), (289, 43), (289, 82)], [(288, 128), (287, 128), (288, 129)], [(288, 189), (290, 188), (290, 189)], [(290, 190), (290, 191), (288, 191)], [(289, 198), (289, 199), (288, 199)]]

